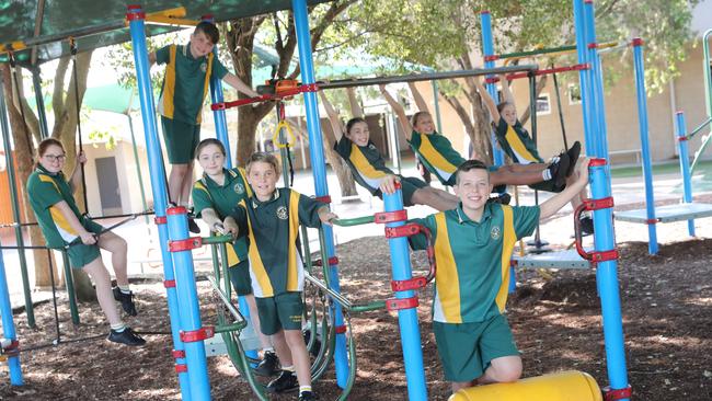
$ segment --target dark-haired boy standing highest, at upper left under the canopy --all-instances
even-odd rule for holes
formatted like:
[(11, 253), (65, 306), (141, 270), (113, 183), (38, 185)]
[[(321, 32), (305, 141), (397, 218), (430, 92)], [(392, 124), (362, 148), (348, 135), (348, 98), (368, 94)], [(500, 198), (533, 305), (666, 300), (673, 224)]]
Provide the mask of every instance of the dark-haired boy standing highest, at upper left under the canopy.
[[(219, 39), (217, 26), (203, 21), (195, 27), (187, 45), (169, 45), (148, 56), (151, 64), (166, 65), (158, 112), (171, 163), (169, 197), (176, 205), (188, 204), (194, 151), (200, 140), (200, 111), (210, 78), (217, 77), (246, 95), (257, 96), (252, 88), (214, 57), (213, 47)], [(194, 231), (197, 226), (192, 226)]]

